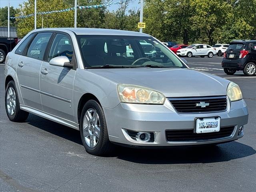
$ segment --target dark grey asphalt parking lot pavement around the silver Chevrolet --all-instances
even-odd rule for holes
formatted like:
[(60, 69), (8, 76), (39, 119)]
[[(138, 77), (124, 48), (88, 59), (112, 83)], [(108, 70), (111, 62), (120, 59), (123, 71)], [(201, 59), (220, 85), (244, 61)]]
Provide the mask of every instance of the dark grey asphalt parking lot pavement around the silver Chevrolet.
[[(80, 133), (30, 114), (10, 122), (0, 65), (1, 192), (252, 192), (256, 188), (256, 76), (224, 74), (222, 58), (185, 58), (188, 66), (238, 84), (248, 105), (245, 136), (209, 147), (118, 148), (109, 157), (85, 152)], [(210, 88), (210, 87), (209, 87)]]

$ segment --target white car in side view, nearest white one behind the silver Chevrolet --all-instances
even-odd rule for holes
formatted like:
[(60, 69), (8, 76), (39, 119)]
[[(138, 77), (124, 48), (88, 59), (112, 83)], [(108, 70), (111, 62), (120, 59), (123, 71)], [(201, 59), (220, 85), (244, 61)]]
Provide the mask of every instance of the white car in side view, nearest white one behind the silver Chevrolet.
[(209, 58), (212, 58), (212, 56), (216, 55), (216, 50), (206, 44), (193, 44), (188, 46), (187, 48), (180, 49), (177, 51), (178, 56), (187, 56), (187, 57), (193, 57), (193, 56), (208, 56)]

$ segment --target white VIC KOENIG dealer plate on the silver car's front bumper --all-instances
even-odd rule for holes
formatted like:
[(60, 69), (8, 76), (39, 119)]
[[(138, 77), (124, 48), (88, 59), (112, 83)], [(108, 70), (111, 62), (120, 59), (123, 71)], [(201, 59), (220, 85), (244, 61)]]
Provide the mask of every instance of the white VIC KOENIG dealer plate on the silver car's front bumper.
[(220, 117), (196, 119), (196, 133), (220, 131)]

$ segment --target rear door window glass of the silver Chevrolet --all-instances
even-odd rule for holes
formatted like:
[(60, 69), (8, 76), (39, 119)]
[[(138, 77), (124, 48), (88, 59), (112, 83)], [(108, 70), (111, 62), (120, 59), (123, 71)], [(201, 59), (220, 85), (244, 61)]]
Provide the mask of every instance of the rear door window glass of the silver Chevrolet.
[(28, 48), (27, 56), (42, 60), (52, 33), (38, 33)]

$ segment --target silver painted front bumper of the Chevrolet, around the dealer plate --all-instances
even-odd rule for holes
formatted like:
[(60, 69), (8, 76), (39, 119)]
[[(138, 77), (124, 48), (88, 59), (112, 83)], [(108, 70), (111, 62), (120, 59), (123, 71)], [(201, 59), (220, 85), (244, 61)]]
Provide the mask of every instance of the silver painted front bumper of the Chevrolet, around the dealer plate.
[[(166, 100), (164, 105), (120, 103), (113, 109), (103, 108), (111, 142), (129, 146), (182, 146), (229, 142), (241, 138), (238, 130), (248, 122), (248, 110), (244, 100), (228, 102), (224, 112), (202, 114), (179, 114)], [(195, 118), (220, 116), (221, 127), (234, 126), (232, 135), (225, 138), (200, 141), (168, 142), (166, 130), (194, 129)], [(125, 134), (125, 129), (139, 132), (154, 132), (154, 142), (139, 142)]]

